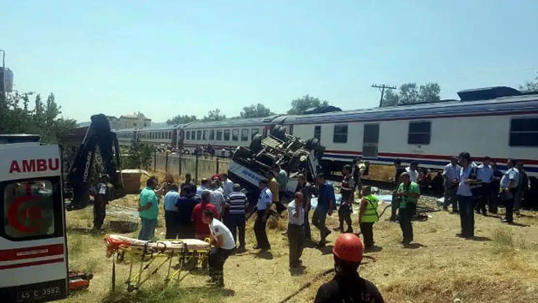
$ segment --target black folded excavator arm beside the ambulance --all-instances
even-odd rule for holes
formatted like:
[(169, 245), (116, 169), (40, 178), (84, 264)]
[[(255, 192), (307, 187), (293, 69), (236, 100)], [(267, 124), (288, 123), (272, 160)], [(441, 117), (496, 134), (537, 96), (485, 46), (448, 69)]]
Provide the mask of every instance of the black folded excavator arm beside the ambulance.
[(121, 158), (116, 133), (110, 130), (110, 122), (103, 114), (91, 116), (91, 124), (77, 151), (73, 165), (67, 177), (68, 195), (71, 196), (73, 207), (87, 205), (90, 190), (91, 168), (95, 160), (95, 152), (103, 160), (104, 171), (113, 187), (111, 198), (125, 196), (125, 188), (121, 174)]

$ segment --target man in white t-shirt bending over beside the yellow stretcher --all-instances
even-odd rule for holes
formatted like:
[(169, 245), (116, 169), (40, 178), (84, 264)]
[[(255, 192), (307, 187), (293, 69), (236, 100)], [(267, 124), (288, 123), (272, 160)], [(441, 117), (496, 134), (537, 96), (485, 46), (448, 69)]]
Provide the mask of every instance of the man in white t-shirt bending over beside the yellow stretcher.
[(208, 283), (218, 287), (224, 287), (224, 263), (235, 249), (235, 241), (231, 231), (221, 221), (215, 219), (215, 214), (206, 209), (202, 215), (202, 221), (209, 225), (213, 248), (209, 252), (209, 276)]

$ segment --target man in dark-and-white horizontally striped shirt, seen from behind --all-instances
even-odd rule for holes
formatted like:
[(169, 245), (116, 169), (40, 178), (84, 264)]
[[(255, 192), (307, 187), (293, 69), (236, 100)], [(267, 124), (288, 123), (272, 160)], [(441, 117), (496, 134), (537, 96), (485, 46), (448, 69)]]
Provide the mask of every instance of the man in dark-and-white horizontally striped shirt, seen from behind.
[(246, 204), (246, 195), (241, 191), (239, 184), (234, 184), (233, 191), (226, 197), (224, 224), (232, 232), (234, 243), (237, 243), (237, 230), (239, 230), (239, 246), (237, 246), (239, 252), (245, 251)]

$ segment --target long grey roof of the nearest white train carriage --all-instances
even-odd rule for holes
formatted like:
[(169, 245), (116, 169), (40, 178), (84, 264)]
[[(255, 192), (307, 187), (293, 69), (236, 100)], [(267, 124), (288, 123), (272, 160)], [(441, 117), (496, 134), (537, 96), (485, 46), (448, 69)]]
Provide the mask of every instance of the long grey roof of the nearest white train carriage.
[[(483, 89), (481, 89), (483, 90)], [(473, 94), (470, 101), (449, 101), (438, 103), (420, 103), (400, 105), (387, 108), (372, 108), (329, 112), (325, 114), (287, 116), (284, 124), (338, 123), (353, 121), (383, 121), (386, 119), (420, 119), (455, 116), (474, 116), (483, 114), (507, 114), (536, 112), (538, 93), (501, 96), (487, 100), (476, 100), (478, 90), (465, 90), (459, 93)], [(458, 93), (458, 94), (459, 94)], [(475, 99), (475, 100), (473, 100)]]

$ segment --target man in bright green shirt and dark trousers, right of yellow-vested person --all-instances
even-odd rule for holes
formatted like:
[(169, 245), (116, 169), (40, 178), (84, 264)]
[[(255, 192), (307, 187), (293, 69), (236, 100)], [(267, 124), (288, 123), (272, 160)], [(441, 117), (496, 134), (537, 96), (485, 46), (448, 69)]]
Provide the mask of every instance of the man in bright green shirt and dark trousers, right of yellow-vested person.
[(409, 180), (407, 173), (402, 173), (399, 181), (401, 183), (398, 186), (396, 196), (400, 198), (400, 228), (402, 229), (402, 236), (404, 238), (402, 244), (407, 246), (413, 241), (411, 217), (416, 208), (416, 202), (420, 197), (420, 187), (415, 182)]

